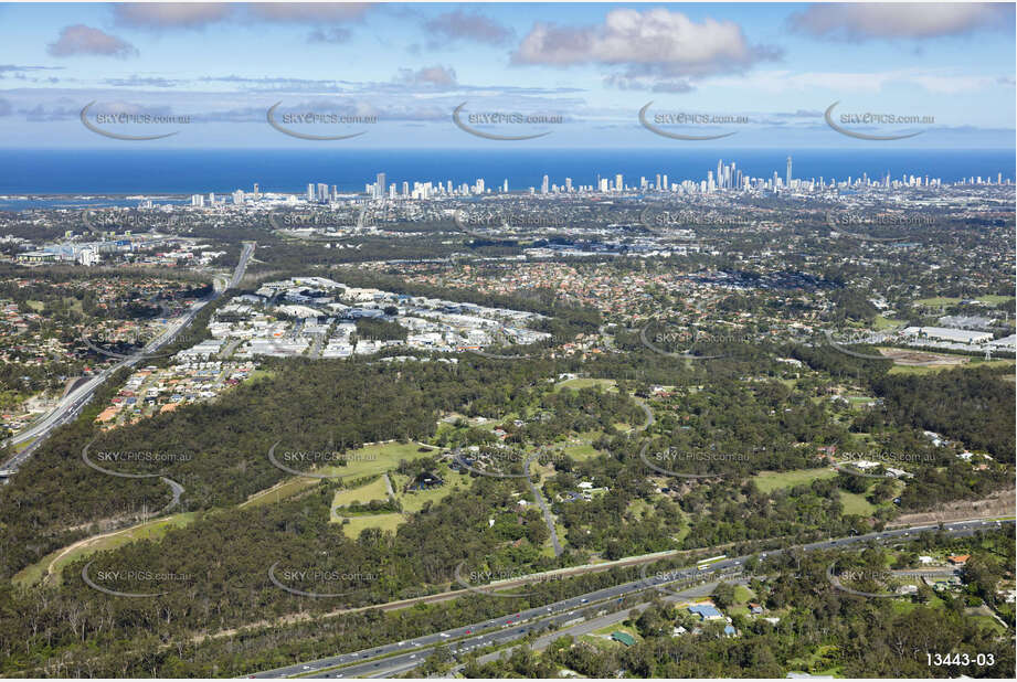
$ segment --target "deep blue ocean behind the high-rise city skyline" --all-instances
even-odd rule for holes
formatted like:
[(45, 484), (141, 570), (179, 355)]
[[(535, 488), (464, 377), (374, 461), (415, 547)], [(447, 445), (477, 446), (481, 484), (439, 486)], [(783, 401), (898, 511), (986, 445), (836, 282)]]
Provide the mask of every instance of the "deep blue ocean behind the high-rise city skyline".
[[(703, 180), (717, 161), (734, 161), (752, 177), (782, 178), (793, 159), (794, 178), (845, 180), (868, 173), (893, 179), (902, 173), (954, 182), (971, 175), (1015, 178), (1014, 150), (913, 149), (335, 149), (335, 150), (0, 150), (0, 195), (24, 194), (194, 194), (250, 191), (303, 194), (309, 182), (337, 185), (340, 192), (363, 191), (375, 174), (386, 182), (414, 181), (473, 184), (483, 178), (488, 188), (539, 188), (544, 174), (563, 185), (595, 184), (597, 175), (624, 175), (638, 185), (639, 177), (657, 173), (670, 182)], [(11, 204), (0, 199), (0, 204)], [(21, 202), (19, 202), (21, 203)]]

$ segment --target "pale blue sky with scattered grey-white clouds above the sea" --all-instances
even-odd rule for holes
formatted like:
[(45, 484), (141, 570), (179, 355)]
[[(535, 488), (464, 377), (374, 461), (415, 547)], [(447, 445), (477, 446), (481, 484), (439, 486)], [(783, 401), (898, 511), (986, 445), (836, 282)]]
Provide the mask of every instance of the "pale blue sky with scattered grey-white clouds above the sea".
[(0, 148), (1013, 149), (1015, 57), (1013, 3), (4, 3)]

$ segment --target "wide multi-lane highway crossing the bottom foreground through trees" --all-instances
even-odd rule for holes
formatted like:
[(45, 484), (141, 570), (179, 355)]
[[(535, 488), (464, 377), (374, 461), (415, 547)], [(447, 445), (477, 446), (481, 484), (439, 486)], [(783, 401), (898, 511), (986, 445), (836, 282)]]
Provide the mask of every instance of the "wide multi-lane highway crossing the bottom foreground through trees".
[[(955, 523), (944, 524), (947, 534), (952, 536), (973, 535), (978, 530), (988, 530), (999, 526), (1002, 523), (1014, 523), (1013, 520), (1003, 522), (972, 520), (957, 521)], [(910, 541), (917, 540), (922, 531), (935, 531), (936, 524), (915, 525), (879, 533), (866, 533), (864, 535), (852, 535), (848, 537), (838, 537), (796, 545), (793, 548), (806, 552), (815, 550), (839, 548), (850, 545), (888, 541)], [(792, 547), (784, 550), (772, 550), (760, 553), (760, 557), (774, 556), (786, 552)], [(509, 641), (526, 637), (530, 632), (545, 630), (550, 625), (562, 626), (570, 620), (581, 616), (582, 611), (591, 607), (594, 614), (605, 605), (617, 603), (626, 596), (634, 595), (648, 588), (661, 587), (669, 583), (680, 583), (682, 580), (699, 579), (716, 574), (724, 574), (741, 571), (748, 556), (728, 557), (716, 563), (709, 564), (708, 568), (690, 566), (669, 571), (665, 576), (648, 576), (646, 579), (634, 580), (623, 585), (606, 587), (585, 595), (579, 595), (571, 599), (558, 601), (555, 604), (540, 606), (537, 608), (521, 610), (510, 616), (502, 616), (491, 620), (452, 628), (442, 632), (434, 632), (423, 637), (415, 637), (411, 640), (382, 644), (371, 649), (343, 653), (340, 656), (328, 657), (309, 661), (306, 663), (296, 663), (285, 668), (278, 668), (251, 675), (252, 678), (285, 678), (290, 675), (314, 676), (314, 678), (364, 678), (364, 676), (391, 676), (412, 670), (423, 662), (434, 648), (447, 644), (454, 653), (465, 653), (467, 651), (489, 647), (491, 644), (501, 644)], [(666, 588), (661, 588), (666, 589)], [(665, 593), (675, 594), (675, 593)], [(504, 598), (494, 596), (491, 598)], [(379, 660), (379, 657), (388, 657)], [(342, 665), (340, 670), (324, 669)], [(319, 672), (316, 672), (319, 671)]]

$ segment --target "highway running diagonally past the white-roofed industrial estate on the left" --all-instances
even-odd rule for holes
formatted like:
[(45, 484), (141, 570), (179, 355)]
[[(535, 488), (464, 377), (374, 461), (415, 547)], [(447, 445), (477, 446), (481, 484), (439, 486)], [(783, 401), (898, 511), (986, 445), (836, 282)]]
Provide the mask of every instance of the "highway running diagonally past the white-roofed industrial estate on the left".
[[(208, 303), (214, 301), (227, 289), (232, 289), (240, 284), (240, 280), (244, 276), (244, 271), (247, 269), (247, 263), (251, 260), (251, 256), (254, 254), (254, 243), (244, 244), (244, 248), (241, 252), (240, 262), (236, 264), (236, 268), (233, 270), (233, 276), (230, 279), (229, 286), (225, 288), (216, 287), (215, 291), (204, 301), (194, 305), (190, 311), (187, 312), (180, 320), (170, 329), (168, 329), (163, 334), (152, 340), (151, 343), (146, 345), (137, 355), (127, 358), (109, 367), (106, 367), (95, 376), (88, 379), (88, 381), (78, 384), (73, 391), (65, 395), (56, 407), (53, 408), (49, 414), (38, 419), (29, 428), (21, 431), (20, 434), (11, 437), (8, 440), (8, 445), (17, 446), (22, 443), (32, 441), (32, 444), (11, 457), (0, 469), (7, 469), (11, 472), (17, 471), (29, 457), (31, 457), (39, 446), (50, 436), (53, 429), (59, 426), (66, 424), (67, 422), (73, 422), (81, 414), (82, 408), (92, 399), (92, 396), (95, 395), (95, 392), (106, 382), (107, 379), (113, 376), (116, 372), (123, 367), (133, 367), (140, 362), (142, 362), (148, 355), (155, 353), (163, 345), (172, 343), (173, 340), (180, 334), (181, 331), (187, 329), (187, 327), (194, 321), (194, 318), (204, 308)], [(219, 280), (216, 280), (219, 285)]]

